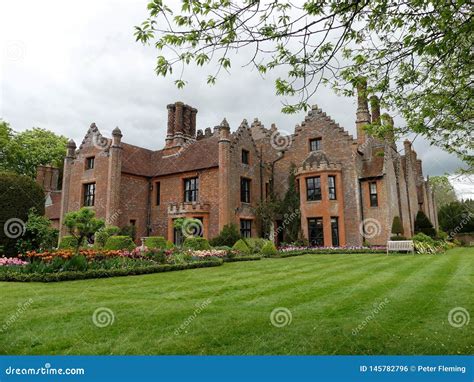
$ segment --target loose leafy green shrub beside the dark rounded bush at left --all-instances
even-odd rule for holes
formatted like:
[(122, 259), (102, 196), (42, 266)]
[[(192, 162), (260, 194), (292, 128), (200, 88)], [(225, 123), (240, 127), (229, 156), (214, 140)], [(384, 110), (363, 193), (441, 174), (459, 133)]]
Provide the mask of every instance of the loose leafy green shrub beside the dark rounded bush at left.
[(51, 227), (51, 220), (38, 215), (34, 208), (28, 213), (25, 232), (17, 242), (18, 253), (27, 251), (46, 251), (53, 249), (58, 243), (59, 231)]

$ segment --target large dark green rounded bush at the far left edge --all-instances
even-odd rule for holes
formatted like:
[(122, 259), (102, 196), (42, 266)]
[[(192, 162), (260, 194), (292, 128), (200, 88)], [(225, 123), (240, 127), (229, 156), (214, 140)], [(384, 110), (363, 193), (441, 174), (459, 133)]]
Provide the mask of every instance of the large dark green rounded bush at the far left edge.
[(0, 246), (7, 256), (17, 254), (17, 241), (25, 233), (28, 213), (44, 214), (44, 191), (31, 178), (0, 172)]

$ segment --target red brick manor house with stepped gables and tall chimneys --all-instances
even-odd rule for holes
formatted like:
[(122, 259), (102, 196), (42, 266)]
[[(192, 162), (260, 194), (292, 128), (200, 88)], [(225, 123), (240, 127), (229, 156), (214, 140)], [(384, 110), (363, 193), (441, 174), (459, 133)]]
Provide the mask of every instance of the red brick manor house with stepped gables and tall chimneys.
[[(213, 130), (196, 130), (196, 109), (181, 102), (167, 108), (161, 150), (123, 142), (118, 128), (111, 138), (103, 137), (93, 123), (78, 148), (68, 143), (61, 190), (58, 169), (38, 169), (46, 214), (54, 225), (63, 227), (67, 212), (90, 206), (108, 224), (134, 225), (137, 238), (165, 236), (179, 242), (173, 221), (181, 217), (201, 220), (207, 238), (228, 223), (240, 227), (243, 236), (257, 236), (258, 202), (270, 189), (283, 196), (290, 168), (296, 166), (302, 235), (313, 245), (362, 245), (365, 229), (371, 230), (365, 234), (368, 243), (386, 244), (394, 216), (401, 218), (404, 235), (411, 236), (418, 210), (437, 226), (433, 192), (411, 143), (404, 142), (400, 155), (393, 136), (380, 140), (363, 129), (380, 121), (377, 106), (369, 112), (363, 87), (357, 139), (318, 107), (287, 136), (258, 119), (250, 126), (244, 120), (234, 132), (225, 119)], [(281, 224), (276, 221), (274, 229)], [(61, 231), (64, 235), (64, 227)]]

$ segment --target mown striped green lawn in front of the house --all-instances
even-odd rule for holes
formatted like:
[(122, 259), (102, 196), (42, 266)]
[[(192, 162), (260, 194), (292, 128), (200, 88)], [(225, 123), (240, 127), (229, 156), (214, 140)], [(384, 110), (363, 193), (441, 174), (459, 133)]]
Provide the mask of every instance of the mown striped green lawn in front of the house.
[[(474, 317), (460, 328), (448, 322), (456, 307), (474, 315), (473, 267), (473, 249), (456, 248), (438, 256), (305, 255), (111, 279), (3, 282), (0, 353), (473, 354)], [(93, 324), (100, 307), (114, 312), (112, 325)], [(291, 311), (289, 325), (270, 322), (278, 307)]]

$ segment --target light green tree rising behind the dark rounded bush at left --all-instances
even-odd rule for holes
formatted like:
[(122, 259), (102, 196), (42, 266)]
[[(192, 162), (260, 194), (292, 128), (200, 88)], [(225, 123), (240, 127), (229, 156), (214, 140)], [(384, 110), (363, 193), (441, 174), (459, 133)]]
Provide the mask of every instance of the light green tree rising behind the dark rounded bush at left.
[(39, 165), (61, 167), (67, 139), (39, 128), (14, 132), (0, 121), (0, 170), (36, 177)]

